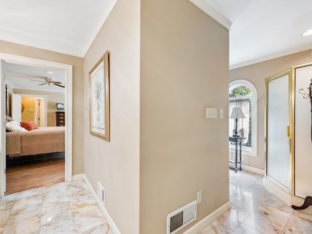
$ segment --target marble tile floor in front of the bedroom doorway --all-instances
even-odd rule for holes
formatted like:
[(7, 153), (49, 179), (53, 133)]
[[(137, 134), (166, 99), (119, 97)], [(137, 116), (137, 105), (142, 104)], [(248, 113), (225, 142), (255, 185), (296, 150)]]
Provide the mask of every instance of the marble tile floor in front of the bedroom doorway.
[(84, 180), (0, 199), (0, 234), (113, 234)]

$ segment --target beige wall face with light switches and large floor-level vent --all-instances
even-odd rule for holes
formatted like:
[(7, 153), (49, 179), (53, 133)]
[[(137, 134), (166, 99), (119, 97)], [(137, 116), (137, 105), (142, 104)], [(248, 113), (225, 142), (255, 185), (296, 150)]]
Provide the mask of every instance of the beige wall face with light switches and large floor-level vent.
[[(189, 0), (141, 0), (140, 233), (196, 200), (197, 220), (229, 201), (229, 31)], [(218, 115), (219, 116), (219, 115)], [(220, 182), (221, 181), (221, 182)]]

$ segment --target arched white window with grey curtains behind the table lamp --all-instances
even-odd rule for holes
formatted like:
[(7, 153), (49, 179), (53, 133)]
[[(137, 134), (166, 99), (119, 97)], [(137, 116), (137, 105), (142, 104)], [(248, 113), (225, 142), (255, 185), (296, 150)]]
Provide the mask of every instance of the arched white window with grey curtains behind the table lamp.
[[(257, 92), (254, 85), (247, 80), (235, 80), (229, 88), (229, 115), (234, 107), (240, 107), (246, 118), (238, 119), (237, 134), (246, 137), (242, 141), (245, 155), (256, 156), (257, 153)], [(235, 121), (229, 118), (229, 136), (234, 133)], [(233, 143), (233, 142), (232, 142)], [(235, 145), (230, 142), (230, 152)]]

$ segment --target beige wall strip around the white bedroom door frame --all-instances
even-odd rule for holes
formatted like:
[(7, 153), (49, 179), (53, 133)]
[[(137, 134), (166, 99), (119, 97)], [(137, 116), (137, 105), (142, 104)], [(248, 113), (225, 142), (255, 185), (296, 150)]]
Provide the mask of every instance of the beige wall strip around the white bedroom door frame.
[(0, 53), (73, 65), (73, 175), (83, 173), (83, 59), (2, 40)]

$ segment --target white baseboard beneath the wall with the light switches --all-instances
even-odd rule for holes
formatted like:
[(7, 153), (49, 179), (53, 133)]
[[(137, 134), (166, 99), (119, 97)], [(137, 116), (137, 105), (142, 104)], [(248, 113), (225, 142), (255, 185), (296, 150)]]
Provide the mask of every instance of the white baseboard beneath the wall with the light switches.
[(231, 202), (228, 201), (227, 203), (216, 209), (213, 213), (200, 220), (198, 223), (196, 223), (193, 227), (185, 231), (183, 234), (198, 234), (201, 230), (203, 230), (205, 227), (211, 224), (217, 217), (223, 215), (230, 208)]

